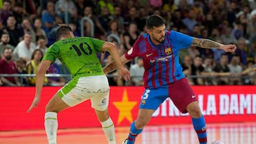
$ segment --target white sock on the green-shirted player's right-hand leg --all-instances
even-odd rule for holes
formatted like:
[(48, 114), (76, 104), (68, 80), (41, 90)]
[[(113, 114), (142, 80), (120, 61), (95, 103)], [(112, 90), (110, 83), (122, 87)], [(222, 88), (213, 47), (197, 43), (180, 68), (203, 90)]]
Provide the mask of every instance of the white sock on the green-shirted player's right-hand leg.
[(109, 144), (116, 144), (115, 133), (114, 133), (114, 123), (111, 118), (107, 121), (100, 122), (102, 124), (102, 129), (107, 137)]

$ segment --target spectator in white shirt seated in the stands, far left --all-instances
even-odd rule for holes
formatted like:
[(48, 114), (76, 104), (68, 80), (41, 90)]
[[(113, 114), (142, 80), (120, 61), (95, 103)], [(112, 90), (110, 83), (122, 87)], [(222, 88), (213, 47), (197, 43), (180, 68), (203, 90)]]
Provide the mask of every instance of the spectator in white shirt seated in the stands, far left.
[(33, 51), (36, 50), (36, 45), (32, 42), (31, 33), (24, 34), (24, 40), (22, 40), (14, 49), (14, 60), (22, 57), (27, 62), (31, 60)]

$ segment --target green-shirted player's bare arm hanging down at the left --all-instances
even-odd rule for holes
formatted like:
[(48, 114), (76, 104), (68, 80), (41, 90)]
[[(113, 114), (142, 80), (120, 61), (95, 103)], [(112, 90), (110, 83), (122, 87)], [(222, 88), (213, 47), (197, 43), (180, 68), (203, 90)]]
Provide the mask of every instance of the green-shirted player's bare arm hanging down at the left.
[(44, 77), (51, 63), (52, 62), (50, 60), (43, 60), (40, 64), (38, 72), (36, 73), (36, 94), (27, 112), (30, 112), (34, 107), (38, 106), (40, 102), (40, 98), (41, 98), (40, 96), (43, 89)]

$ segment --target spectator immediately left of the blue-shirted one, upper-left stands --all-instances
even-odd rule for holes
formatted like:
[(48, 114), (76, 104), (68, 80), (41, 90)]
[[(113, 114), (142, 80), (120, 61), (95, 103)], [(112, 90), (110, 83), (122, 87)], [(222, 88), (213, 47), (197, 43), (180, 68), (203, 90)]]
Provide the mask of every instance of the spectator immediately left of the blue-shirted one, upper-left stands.
[(41, 18), (36, 18), (33, 23), (33, 31), (35, 31), (36, 33), (36, 41), (38, 41), (38, 38), (41, 37), (41, 35), (43, 35), (46, 38), (46, 42), (47, 42), (46, 31), (43, 30), (42, 26), (43, 26), (43, 23)]

